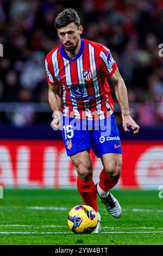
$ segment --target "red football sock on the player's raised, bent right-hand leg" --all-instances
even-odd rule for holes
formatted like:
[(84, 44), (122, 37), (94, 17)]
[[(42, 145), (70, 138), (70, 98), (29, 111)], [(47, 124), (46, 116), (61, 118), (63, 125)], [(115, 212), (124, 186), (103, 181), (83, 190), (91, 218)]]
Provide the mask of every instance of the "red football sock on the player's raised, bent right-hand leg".
[(103, 169), (101, 171), (101, 174), (99, 175), (99, 187), (101, 187), (101, 189), (103, 191), (109, 191), (110, 188), (114, 187), (117, 183), (118, 183), (118, 179), (112, 179)]

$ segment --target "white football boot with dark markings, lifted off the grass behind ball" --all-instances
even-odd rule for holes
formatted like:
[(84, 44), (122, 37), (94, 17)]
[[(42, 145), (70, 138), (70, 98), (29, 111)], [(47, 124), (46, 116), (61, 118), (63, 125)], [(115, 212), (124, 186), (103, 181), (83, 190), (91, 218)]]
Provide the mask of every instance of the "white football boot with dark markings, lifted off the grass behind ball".
[[(97, 189), (97, 184), (96, 184), (96, 189)], [(98, 190), (97, 190), (98, 194)], [(99, 196), (99, 194), (98, 194)], [(101, 202), (105, 205), (106, 210), (109, 212), (109, 214), (115, 218), (120, 218), (122, 215), (122, 209), (120, 204), (118, 203), (118, 200), (108, 191), (106, 194), (106, 197), (101, 197)]]

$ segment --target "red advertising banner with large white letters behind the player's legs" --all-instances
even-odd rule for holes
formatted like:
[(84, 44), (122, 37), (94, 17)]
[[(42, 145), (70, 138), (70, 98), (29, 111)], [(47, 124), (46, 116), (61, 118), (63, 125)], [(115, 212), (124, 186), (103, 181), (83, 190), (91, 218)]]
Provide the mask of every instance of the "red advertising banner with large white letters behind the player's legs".
[[(163, 142), (123, 141), (122, 175), (117, 188), (163, 185)], [(102, 163), (91, 151), (93, 179)], [(62, 141), (0, 141), (0, 185), (4, 187), (76, 187), (77, 172)]]

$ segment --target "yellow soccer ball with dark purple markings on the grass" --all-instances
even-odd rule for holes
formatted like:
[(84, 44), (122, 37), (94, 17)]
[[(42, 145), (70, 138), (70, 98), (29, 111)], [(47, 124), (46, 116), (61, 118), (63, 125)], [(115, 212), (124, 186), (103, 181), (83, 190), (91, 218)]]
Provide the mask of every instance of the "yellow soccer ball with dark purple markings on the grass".
[(97, 212), (89, 205), (77, 205), (67, 217), (68, 227), (73, 233), (92, 233), (98, 222)]

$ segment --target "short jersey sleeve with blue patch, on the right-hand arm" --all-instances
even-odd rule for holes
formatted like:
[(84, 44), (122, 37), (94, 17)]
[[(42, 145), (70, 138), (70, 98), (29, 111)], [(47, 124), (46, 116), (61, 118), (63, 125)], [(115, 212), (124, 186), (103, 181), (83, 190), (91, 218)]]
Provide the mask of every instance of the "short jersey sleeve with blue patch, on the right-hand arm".
[(105, 46), (102, 46), (100, 59), (101, 59), (101, 68), (104, 74), (108, 77), (112, 76), (115, 70), (117, 69), (117, 64), (114, 58), (112, 58), (110, 50)]

